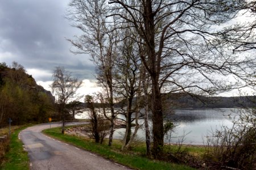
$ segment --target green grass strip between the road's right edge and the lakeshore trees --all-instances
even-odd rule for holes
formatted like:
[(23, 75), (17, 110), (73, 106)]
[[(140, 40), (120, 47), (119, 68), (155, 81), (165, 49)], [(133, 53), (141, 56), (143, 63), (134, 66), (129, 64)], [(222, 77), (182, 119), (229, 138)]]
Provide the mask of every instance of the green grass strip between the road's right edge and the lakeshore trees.
[(90, 139), (71, 136), (67, 134), (63, 135), (61, 134), (60, 128), (46, 129), (43, 132), (47, 135), (50, 135), (51, 137), (80, 147), (84, 150), (94, 152), (98, 155), (103, 156), (106, 159), (113, 160), (114, 162), (126, 165), (134, 169), (193, 169), (186, 165), (151, 160), (140, 156), (140, 154), (136, 154), (143, 150), (143, 146), (135, 147), (133, 150), (133, 154), (122, 154), (121, 152), (119, 152), (121, 148), (121, 142), (117, 140), (114, 140), (113, 146), (109, 147), (108, 145), (106, 145), (106, 143), (100, 145), (94, 143)]

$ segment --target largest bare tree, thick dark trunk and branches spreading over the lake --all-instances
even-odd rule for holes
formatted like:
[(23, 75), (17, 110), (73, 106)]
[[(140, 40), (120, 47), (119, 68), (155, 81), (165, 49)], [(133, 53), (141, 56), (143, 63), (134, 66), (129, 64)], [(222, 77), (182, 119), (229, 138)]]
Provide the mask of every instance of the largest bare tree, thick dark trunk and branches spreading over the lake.
[[(152, 154), (159, 157), (163, 147), (163, 107), (161, 92), (191, 91), (218, 94), (245, 84), (225, 82), (242, 79), (253, 62), (233, 54), (236, 43), (250, 43), (255, 22), (223, 28), (241, 14), (247, 1), (123, 1), (110, 0), (118, 28), (129, 23), (143, 40), (146, 55), (141, 56), (152, 83)], [(255, 59), (255, 58), (254, 58)], [(232, 75), (232, 76), (230, 76)]]

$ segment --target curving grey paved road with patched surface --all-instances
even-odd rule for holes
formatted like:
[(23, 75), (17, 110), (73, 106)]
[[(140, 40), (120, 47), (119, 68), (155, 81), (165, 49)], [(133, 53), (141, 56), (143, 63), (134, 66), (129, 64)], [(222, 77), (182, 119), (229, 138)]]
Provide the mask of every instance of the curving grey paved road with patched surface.
[[(68, 125), (78, 123), (71, 122)], [(57, 126), (61, 124), (51, 124), (51, 127)], [(24, 149), (28, 151), (31, 169), (129, 169), (91, 152), (47, 137), (41, 133), (47, 128), (49, 124), (36, 125), (22, 130), (19, 134)]]

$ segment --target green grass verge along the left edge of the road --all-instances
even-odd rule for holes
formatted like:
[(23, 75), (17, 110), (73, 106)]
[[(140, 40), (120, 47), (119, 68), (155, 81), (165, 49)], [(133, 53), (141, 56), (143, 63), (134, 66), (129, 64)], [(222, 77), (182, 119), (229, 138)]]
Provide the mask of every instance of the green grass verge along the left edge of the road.
[(5, 155), (5, 161), (0, 166), (1, 169), (29, 169), (29, 159), (27, 152), (23, 150), (22, 142), (18, 138), (19, 132), (25, 128), (27, 128), (27, 126), (23, 126), (22, 128), (16, 129), (13, 131), (13, 133), (11, 133), (10, 150)]

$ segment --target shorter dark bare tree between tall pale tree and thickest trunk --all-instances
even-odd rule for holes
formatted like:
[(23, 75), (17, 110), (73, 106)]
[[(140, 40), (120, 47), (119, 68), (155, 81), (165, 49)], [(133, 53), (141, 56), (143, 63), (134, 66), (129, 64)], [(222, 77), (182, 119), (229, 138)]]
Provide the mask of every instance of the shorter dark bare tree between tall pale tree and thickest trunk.
[[(132, 29), (122, 30), (123, 33), (119, 37), (123, 40), (119, 42), (118, 57), (115, 61), (115, 91), (117, 91), (118, 97), (122, 99), (123, 105), (120, 109), (125, 116), (126, 131), (123, 139), (122, 151), (127, 151), (130, 147), (130, 143), (133, 141), (134, 136), (137, 133), (138, 116), (141, 102), (141, 73), (139, 67), (141, 62), (139, 61), (138, 45), (134, 41), (135, 37)], [(134, 115), (134, 117), (132, 117)], [(131, 132), (132, 122), (135, 123), (135, 131)]]

